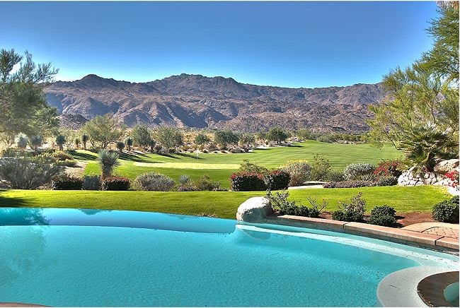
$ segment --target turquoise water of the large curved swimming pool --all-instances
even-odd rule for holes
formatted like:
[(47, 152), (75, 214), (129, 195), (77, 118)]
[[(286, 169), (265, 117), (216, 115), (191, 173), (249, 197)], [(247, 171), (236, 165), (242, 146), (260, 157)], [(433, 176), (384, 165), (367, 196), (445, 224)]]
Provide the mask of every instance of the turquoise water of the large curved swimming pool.
[(379, 281), (456, 257), (334, 232), (130, 211), (0, 208), (0, 302), (374, 306)]

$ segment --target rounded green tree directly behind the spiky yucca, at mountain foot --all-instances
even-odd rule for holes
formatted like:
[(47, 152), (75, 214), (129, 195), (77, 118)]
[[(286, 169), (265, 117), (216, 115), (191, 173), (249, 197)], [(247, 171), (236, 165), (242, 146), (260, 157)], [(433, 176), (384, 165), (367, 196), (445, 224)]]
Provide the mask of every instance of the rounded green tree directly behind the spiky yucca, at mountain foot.
[(107, 148), (125, 134), (125, 126), (120, 125), (110, 114), (97, 116), (86, 122), (83, 131), (88, 134), (91, 144), (99, 143), (101, 149)]

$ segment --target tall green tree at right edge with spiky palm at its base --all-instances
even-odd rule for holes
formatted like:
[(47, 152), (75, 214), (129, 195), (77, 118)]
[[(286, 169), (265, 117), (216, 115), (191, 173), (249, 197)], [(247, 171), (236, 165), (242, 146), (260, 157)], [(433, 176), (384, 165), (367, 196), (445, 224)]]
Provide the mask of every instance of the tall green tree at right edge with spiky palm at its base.
[(459, 140), (459, 8), (442, 5), (428, 32), (435, 45), (422, 59), (384, 77), (388, 95), (369, 109), (368, 140), (391, 143), (418, 167), (456, 157)]

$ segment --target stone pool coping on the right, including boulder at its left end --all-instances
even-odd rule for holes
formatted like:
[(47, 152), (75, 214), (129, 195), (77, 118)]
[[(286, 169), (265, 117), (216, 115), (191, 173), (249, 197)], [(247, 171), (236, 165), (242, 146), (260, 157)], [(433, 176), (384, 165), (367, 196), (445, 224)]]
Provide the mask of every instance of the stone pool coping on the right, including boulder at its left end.
[(370, 225), (367, 223), (349, 223), (346, 221), (323, 218), (280, 215), (273, 213), (270, 201), (264, 197), (253, 197), (241, 203), (236, 213), (236, 219), (247, 223), (269, 223), (274, 225), (343, 232), (415, 247), (434, 249), (450, 254), (459, 254), (459, 240), (452, 237), (430, 235), (394, 227)]

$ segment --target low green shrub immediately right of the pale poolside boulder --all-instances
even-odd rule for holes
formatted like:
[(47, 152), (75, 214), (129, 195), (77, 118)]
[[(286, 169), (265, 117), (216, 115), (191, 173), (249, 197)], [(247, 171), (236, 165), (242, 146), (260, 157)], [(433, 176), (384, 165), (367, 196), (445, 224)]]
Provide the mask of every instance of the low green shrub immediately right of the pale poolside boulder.
[(308, 198), (308, 201), (311, 205), (304, 206), (297, 204), (295, 201), (288, 201), (289, 192), (286, 190), (276, 192), (273, 195), (270, 189), (267, 191), (266, 198), (270, 200), (270, 204), (275, 211), (279, 211), (284, 215), (297, 215), (304, 217), (317, 218), (321, 211), (326, 207), (327, 203), (323, 200), (323, 203), (320, 205), (316, 202), (315, 199)]

